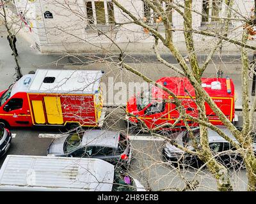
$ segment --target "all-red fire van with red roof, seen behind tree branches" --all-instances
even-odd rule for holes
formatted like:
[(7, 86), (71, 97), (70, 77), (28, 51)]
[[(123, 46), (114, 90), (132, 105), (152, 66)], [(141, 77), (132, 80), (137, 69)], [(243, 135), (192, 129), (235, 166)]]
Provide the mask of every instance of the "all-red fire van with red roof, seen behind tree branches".
[[(157, 80), (157, 84), (161, 84), (172, 91), (181, 100), (186, 113), (193, 117), (198, 117), (195, 90), (187, 78), (164, 77)], [(235, 109), (234, 84), (232, 80), (229, 77), (202, 78), (202, 87), (227, 118), (233, 121)], [(167, 122), (173, 124), (180, 115), (177, 107), (172, 103), (172, 97), (167, 92), (154, 86), (147, 92), (144, 91), (129, 99), (126, 108), (128, 113), (132, 113), (138, 119), (143, 120), (148, 128), (156, 128)], [(220, 119), (207, 103), (205, 103), (205, 108), (209, 121), (214, 125), (221, 125)], [(138, 124), (136, 117), (126, 116), (131, 126), (136, 127), (136, 124)], [(189, 126), (198, 126), (191, 120), (188, 120), (188, 124)], [(180, 120), (176, 127), (183, 128), (184, 122)]]

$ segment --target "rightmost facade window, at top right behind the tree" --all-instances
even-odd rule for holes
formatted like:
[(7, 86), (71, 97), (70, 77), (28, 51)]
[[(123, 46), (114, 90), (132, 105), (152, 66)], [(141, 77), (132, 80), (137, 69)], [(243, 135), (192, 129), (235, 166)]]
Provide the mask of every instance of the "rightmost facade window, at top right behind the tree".
[(202, 22), (218, 22), (221, 15), (222, 0), (203, 0)]

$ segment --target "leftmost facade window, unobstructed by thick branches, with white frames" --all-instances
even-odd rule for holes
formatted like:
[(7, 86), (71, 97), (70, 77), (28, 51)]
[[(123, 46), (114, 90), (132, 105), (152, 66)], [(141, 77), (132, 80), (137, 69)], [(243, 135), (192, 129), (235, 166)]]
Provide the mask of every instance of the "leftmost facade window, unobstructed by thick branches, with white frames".
[(115, 24), (114, 6), (111, 0), (86, 1), (88, 24)]

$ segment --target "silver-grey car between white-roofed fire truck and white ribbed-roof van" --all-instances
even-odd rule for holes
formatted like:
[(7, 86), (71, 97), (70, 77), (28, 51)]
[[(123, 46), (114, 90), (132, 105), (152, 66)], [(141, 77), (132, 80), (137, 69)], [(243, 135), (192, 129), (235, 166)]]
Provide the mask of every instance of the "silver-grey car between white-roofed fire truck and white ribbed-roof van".
[(122, 133), (90, 129), (55, 138), (47, 149), (47, 156), (92, 157), (111, 164), (129, 166), (131, 144)]

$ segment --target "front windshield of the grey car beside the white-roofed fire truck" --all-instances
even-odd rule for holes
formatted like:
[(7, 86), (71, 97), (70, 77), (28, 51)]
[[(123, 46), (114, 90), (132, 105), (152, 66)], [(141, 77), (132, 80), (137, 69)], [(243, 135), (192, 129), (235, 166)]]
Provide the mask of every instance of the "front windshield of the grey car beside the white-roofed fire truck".
[(83, 136), (81, 134), (78, 135), (77, 133), (68, 136), (63, 147), (64, 153), (69, 153), (77, 149), (77, 147), (81, 145), (82, 139)]

